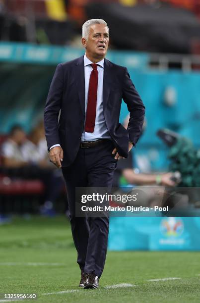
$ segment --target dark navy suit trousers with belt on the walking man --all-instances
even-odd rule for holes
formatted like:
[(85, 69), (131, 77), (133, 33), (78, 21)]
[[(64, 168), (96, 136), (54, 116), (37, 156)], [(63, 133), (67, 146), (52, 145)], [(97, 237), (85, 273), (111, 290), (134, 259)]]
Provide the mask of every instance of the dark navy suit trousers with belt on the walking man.
[(108, 243), (108, 217), (76, 217), (76, 187), (112, 187), (117, 160), (112, 151), (114, 144), (105, 139), (100, 145), (80, 148), (75, 161), (63, 167), (67, 187), (69, 219), (72, 237), (77, 250), (77, 263), (81, 271), (94, 273), (99, 278), (103, 272)]

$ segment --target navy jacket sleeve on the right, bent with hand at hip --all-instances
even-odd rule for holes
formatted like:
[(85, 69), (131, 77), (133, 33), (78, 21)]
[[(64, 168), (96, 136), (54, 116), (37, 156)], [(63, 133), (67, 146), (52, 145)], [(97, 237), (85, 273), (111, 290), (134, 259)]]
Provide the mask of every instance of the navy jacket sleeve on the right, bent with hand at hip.
[(129, 133), (129, 140), (135, 146), (142, 131), (145, 107), (133, 85), (132, 80), (130, 79), (127, 68), (125, 68), (124, 73), (122, 98), (127, 104), (128, 110), (130, 112), (130, 119), (127, 128)]

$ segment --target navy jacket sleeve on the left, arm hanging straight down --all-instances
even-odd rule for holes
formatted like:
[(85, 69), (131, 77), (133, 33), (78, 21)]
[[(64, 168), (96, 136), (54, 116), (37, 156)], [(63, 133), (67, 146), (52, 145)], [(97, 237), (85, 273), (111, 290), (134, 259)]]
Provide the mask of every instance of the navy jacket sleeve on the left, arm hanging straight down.
[(52, 79), (44, 110), (45, 136), (48, 151), (55, 144), (60, 144), (58, 117), (61, 109), (64, 87), (64, 72), (62, 64), (58, 64)]

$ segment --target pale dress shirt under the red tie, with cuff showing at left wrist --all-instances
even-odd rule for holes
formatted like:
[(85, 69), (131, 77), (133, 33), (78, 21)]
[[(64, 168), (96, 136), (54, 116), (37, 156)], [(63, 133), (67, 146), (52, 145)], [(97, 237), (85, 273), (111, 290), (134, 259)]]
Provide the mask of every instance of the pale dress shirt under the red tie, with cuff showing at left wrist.
[[(92, 72), (92, 64), (93, 62), (90, 61), (86, 54), (84, 54), (84, 72), (85, 72), (85, 118), (86, 118), (86, 111), (87, 111), (87, 99), (88, 99), (88, 90), (89, 90), (89, 80), (90, 74)], [(88, 133), (83, 130), (81, 142), (84, 141), (95, 141), (98, 139), (111, 139), (107, 126), (106, 121), (104, 119), (103, 113), (103, 75), (104, 75), (104, 59), (97, 62), (97, 70), (98, 70), (98, 88), (97, 88), (97, 104), (96, 104), (96, 119), (95, 119), (95, 127), (93, 133)], [(53, 145), (50, 150), (55, 147), (60, 146), (60, 144)]]

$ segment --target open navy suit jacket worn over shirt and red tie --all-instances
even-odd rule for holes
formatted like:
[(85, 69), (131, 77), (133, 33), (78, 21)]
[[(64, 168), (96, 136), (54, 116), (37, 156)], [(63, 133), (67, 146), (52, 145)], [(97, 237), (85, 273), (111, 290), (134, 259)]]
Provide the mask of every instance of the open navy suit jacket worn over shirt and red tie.
[[(128, 129), (119, 123), (122, 99), (130, 111)], [(128, 157), (129, 141), (134, 146), (141, 134), (145, 107), (126, 67), (104, 60), (103, 111), (109, 134), (120, 155)], [(59, 117), (60, 114), (60, 117)], [(83, 56), (58, 64), (47, 97), (44, 124), (48, 150), (60, 144), (62, 166), (75, 159), (85, 120), (85, 80)]]

